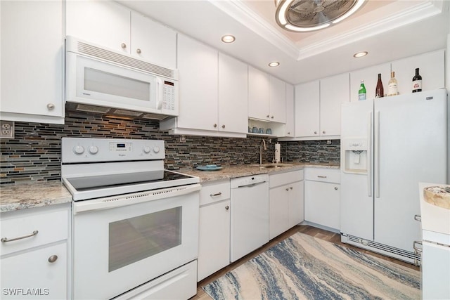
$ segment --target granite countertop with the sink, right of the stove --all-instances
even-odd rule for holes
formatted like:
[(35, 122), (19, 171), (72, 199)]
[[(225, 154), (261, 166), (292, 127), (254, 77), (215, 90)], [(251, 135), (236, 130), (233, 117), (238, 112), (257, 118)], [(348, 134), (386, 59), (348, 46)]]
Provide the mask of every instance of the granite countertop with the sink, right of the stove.
[(221, 179), (229, 179), (257, 174), (273, 174), (285, 171), (301, 170), (304, 167), (319, 167), (328, 169), (339, 169), (340, 165), (335, 163), (311, 163), (311, 162), (288, 162), (291, 166), (276, 167), (276, 168), (258, 168), (250, 167), (250, 164), (243, 164), (238, 166), (224, 166), (223, 169), (217, 171), (200, 171), (198, 169), (180, 169), (174, 170), (180, 173), (197, 176), (201, 182), (217, 181)]

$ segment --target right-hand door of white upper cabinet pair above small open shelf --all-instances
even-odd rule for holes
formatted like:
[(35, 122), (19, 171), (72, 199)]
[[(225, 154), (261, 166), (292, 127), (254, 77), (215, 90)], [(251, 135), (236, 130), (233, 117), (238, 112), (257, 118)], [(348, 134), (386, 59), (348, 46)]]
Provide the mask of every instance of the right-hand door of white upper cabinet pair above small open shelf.
[(269, 112), (271, 122), (286, 122), (286, 84), (284, 81), (269, 77)]

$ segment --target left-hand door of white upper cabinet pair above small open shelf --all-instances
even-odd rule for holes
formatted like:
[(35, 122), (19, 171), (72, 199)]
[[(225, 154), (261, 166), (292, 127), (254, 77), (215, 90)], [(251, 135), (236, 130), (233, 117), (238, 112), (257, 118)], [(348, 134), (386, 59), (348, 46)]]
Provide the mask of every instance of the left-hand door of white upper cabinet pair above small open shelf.
[(248, 66), (248, 117), (269, 119), (269, 74)]

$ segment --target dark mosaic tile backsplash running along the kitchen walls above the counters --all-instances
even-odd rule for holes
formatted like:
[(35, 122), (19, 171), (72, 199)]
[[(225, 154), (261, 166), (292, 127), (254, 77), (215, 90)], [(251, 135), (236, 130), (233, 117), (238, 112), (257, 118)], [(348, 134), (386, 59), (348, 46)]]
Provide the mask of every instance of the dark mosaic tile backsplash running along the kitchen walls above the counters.
[[(164, 140), (166, 169), (195, 168), (204, 164), (259, 163), (261, 138), (171, 136), (153, 120), (124, 120), (80, 112), (66, 112), (65, 124), (15, 122), (15, 138), (0, 140), (0, 183), (60, 180), (60, 141), (63, 137), (136, 138)], [(266, 138), (267, 141), (267, 138)], [(264, 162), (274, 156), (272, 138), (263, 151)], [(339, 162), (339, 140), (282, 142), (285, 162)]]

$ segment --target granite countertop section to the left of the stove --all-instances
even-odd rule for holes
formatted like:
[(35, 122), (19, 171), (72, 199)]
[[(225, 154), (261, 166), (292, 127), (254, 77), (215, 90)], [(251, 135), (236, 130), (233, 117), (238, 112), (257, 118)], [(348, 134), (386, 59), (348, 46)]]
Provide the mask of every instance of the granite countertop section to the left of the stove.
[(72, 202), (72, 195), (60, 181), (1, 186), (0, 212), (68, 202)]

